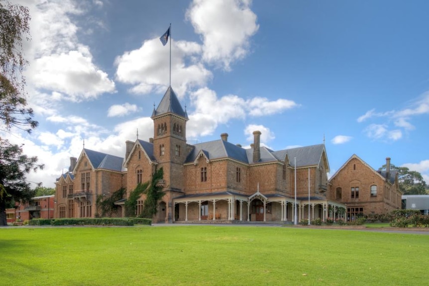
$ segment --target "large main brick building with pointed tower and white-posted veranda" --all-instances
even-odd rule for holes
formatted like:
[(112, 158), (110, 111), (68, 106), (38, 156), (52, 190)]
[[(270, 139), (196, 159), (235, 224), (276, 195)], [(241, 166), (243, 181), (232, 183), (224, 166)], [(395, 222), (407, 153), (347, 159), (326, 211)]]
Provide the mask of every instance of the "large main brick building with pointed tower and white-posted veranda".
[[(273, 151), (261, 146), (259, 131), (253, 132), (250, 148), (228, 142), (226, 133), (219, 140), (187, 144), (189, 118), (171, 87), (151, 118), (153, 138), (126, 141), (124, 158), (85, 148), (78, 159), (71, 158), (69, 172), (57, 181), (56, 217), (94, 217), (99, 195), (125, 188), (129, 196), (159, 168), (165, 195), (154, 217), (158, 222), (294, 221), (295, 199), (298, 221), (309, 214), (338, 218), (338, 208), (345, 208), (329, 198), (324, 144)], [(137, 214), (143, 201), (144, 195)]]

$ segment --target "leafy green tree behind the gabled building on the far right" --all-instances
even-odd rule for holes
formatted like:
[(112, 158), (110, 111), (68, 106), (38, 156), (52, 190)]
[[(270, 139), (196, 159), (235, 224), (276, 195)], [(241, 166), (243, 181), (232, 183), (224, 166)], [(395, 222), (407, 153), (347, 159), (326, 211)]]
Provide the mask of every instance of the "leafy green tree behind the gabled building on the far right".
[[(398, 172), (399, 189), (404, 194), (426, 194), (427, 185), (422, 174), (417, 171), (410, 171), (407, 167), (396, 167), (393, 164), (390, 165), (390, 169)], [(378, 170), (386, 170), (386, 165)]]

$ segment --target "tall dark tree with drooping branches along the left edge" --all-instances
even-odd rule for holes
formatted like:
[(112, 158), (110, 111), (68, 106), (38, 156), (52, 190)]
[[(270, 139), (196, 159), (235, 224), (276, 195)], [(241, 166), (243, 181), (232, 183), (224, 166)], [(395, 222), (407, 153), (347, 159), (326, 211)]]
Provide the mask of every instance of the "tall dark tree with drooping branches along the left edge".
[[(27, 108), (25, 78), (28, 65), (22, 41), (29, 39), (30, 14), (27, 7), (0, 0), (0, 131), (18, 128), (30, 133), (38, 122)], [(22, 146), (0, 137), (0, 225), (7, 225), (5, 207), (13, 200), (28, 200), (34, 195), (25, 174), (43, 168), (37, 157), (22, 154)]]

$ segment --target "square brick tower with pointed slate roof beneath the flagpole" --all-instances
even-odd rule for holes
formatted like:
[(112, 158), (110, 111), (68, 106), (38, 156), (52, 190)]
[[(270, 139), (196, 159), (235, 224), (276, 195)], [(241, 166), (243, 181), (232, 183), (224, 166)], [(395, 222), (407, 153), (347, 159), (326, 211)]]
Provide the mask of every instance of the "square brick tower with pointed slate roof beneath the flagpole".
[(167, 204), (167, 217), (170, 222), (172, 198), (183, 194), (183, 163), (187, 156), (186, 122), (189, 120), (171, 86), (158, 107), (153, 110), (151, 118), (154, 127), (153, 155), (158, 163), (157, 168), (162, 167), (164, 171), (163, 200)]

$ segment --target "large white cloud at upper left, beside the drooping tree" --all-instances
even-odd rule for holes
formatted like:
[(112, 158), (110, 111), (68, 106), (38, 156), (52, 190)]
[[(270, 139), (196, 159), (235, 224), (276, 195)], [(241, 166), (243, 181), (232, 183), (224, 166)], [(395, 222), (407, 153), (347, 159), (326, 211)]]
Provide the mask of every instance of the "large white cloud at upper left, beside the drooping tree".
[[(94, 63), (89, 47), (79, 42), (79, 28), (71, 20), (84, 13), (77, 3), (38, 0), (27, 4), (32, 16), (30, 28), (37, 31), (25, 47), (30, 62), (25, 72), (28, 83), (52, 95), (68, 95), (56, 96), (58, 100), (81, 101), (114, 92), (114, 82)], [(32, 103), (43, 105), (44, 100), (35, 98)]]

